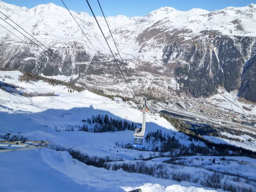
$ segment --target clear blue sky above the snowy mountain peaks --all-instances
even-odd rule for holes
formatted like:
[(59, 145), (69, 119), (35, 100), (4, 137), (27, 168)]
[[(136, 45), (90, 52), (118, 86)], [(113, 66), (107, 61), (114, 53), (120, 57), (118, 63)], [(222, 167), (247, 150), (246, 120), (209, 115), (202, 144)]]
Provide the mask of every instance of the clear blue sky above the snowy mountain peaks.
[[(40, 4), (54, 3), (64, 6), (61, 0), (3, 0), (5, 3), (30, 9)], [(63, 0), (67, 7), (76, 12), (88, 12), (86, 0)], [(97, 0), (88, 0), (96, 15), (101, 15)], [(256, 0), (99, 0), (105, 16), (126, 15), (128, 17), (145, 16), (155, 9), (168, 6), (180, 11), (188, 11), (193, 8), (206, 9), (208, 11), (224, 9), (229, 6), (242, 7)]]

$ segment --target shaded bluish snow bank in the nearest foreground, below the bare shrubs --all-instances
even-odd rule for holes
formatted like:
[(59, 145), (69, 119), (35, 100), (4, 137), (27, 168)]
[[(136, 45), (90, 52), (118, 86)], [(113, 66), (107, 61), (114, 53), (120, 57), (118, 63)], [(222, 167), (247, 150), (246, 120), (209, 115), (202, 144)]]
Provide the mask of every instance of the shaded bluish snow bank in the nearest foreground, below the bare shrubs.
[(87, 166), (66, 151), (46, 148), (1, 154), (0, 173), (1, 191), (124, 192), (141, 188), (143, 192), (215, 192), (188, 182)]

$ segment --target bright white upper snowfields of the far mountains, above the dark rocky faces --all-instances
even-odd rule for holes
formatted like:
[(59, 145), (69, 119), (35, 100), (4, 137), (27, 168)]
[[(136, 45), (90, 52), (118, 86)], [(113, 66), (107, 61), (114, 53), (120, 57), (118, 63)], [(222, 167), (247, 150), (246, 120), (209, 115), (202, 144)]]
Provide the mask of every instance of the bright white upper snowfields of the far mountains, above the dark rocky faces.
[[(54, 47), (54, 49), (80, 47), (87, 54), (95, 55), (95, 50), (87, 38), (84, 38), (79, 26), (64, 7), (49, 3), (27, 9), (0, 1), (0, 10), (49, 47)], [(81, 27), (85, 29), (94, 47), (101, 54), (110, 54), (94, 18), (85, 12), (72, 11), (72, 13)], [(97, 18), (103, 32), (108, 37), (110, 33), (104, 18), (101, 16)], [(119, 51), (123, 52), (121, 53), (123, 58), (130, 58), (129, 55), (134, 55), (138, 59), (155, 62), (158, 65), (163, 59), (163, 48), (168, 44), (169, 36), (177, 30), (184, 31), (177, 36), (185, 39), (190, 39), (192, 35), (198, 35), (204, 30), (216, 30), (223, 35), (256, 37), (256, 25), (253, 25), (256, 22), (255, 4), (239, 8), (229, 7), (213, 12), (203, 9), (182, 12), (172, 7), (162, 7), (144, 17), (118, 15), (107, 17), (107, 20)], [(10, 22), (10, 20), (6, 21)], [(18, 37), (25, 39), (3, 20), (0, 24)], [(166, 34), (166, 37), (161, 34)], [(18, 43), (17, 39), (3, 28), (0, 28), (0, 38), (5, 41), (15, 40)], [(115, 51), (113, 42), (109, 41), (109, 43)]]

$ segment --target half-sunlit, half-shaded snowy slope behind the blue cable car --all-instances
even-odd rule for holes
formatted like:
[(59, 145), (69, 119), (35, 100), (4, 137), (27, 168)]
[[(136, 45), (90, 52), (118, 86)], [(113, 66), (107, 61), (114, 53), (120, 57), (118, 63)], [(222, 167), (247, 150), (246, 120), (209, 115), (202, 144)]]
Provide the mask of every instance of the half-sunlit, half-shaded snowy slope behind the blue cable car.
[[(0, 114), (5, 121), (0, 122), (0, 131), (4, 133), (21, 132), (31, 140), (49, 140), (59, 145), (76, 146), (76, 148), (90, 155), (105, 157), (106, 155), (121, 157), (123, 159), (133, 160), (140, 154), (143, 157), (149, 157), (150, 151), (127, 150), (118, 147), (115, 143), (132, 143), (133, 131), (118, 131), (113, 133), (87, 133), (77, 131), (78, 126), (83, 126), (83, 119), (91, 118), (92, 115), (107, 114), (114, 119), (126, 119), (131, 122), (141, 123), (142, 113), (131, 108), (125, 102), (117, 104), (111, 99), (98, 96), (87, 90), (74, 93), (67, 92), (64, 86), (52, 86), (43, 81), (38, 82), (20, 82), (18, 76), (20, 71), (0, 71), (0, 76), (10, 75), (12, 79), (6, 78), (6, 83), (16, 84), (20, 87), (26, 87), (26, 92), (48, 93), (54, 91), (55, 97), (32, 97), (12, 95), (0, 90), (1, 104)], [(65, 89), (64, 89), (65, 88)], [(12, 121), (12, 119), (16, 119)], [(181, 138), (181, 144), (189, 145), (188, 137), (179, 133), (166, 119), (154, 119), (154, 115), (146, 115), (147, 130), (161, 130), (170, 136)], [(88, 125), (93, 128), (94, 125)], [(55, 126), (60, 132), (55, 131)], [(74, 127), (76, 131), (65, 131)], [(137, 125), (140, 126), (140, 125)], [(69, 140), (67, 140), (67, 137)], [(109, 138), (113, 139), (110, 140)], [(98, 141), (98, 142), (95, 142)], [(204, 143), (195, 143), (204, 145)], [(146, 144), (150, 145), (150, 144)], [(116, 151), (119, 152), (116, 152)]]

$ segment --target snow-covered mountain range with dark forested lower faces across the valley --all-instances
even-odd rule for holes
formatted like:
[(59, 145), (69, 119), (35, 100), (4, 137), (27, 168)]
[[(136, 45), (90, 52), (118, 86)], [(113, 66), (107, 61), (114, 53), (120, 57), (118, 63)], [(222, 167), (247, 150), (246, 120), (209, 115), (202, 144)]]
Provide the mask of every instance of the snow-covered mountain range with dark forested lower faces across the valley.
[[(79, 64), (83, 71), (82, 66), (91, 61), (113, 59), (94, 18), (87, 13), (72, 12), (101, 58), (63, 7), (49, 3), (26, 9), (0, 1), (0, 11), (66, 61), (60, 64), (50, 55), (46, 59), (0, 27), (0, 66), (48, 76), (71, 75), (69, 64)], [(97, 19), (116, 53), (104, 18)], [(240, 87), (240, 95), (255, 102), (251, 96), (256, 94), (252, 60), (256, 53), (255, 4), (213, 12), (162, 7), (145, 17), (119, 15), (107, 20), (122, 58), (132, 61), (137, 70), (175, 75), (181, 88), (194, 96), (216, 93), (219, 85), (227, 91)], [(3, 20), (0, 24), (43, 53)]]

